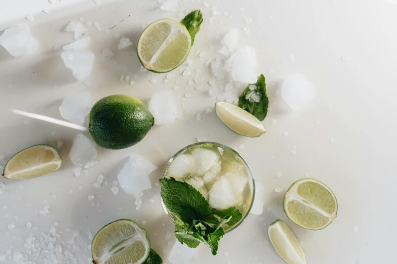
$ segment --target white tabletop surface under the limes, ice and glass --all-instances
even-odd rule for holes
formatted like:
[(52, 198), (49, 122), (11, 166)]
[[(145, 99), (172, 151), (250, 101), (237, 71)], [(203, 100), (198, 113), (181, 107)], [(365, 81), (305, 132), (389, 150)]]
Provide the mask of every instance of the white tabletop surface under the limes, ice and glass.
[[(40, 237), (55, 222), (69, 241), (75, 233), (81, 251), (74, 252), (79, 263), (89, 263), (90, 233), (118, 218), (131, 218), (148, 230), (152, 246), (165, 261), (173, 245), (172, 223), (165, 215), (156, 184), (168, 159), (198, 137), (229, 145), (239, 150), (254, 172), (257, 182), (264, 184), (264, 213), (250, 214), (244, 223), (221, 241), (218, 255), (205, 247), (191, 263), (283, 263), (267, 238), (267, 226), (281, 218), (303, 243), (307, 263), (388, 263), (395, 260), (397, 246), (397, 5), (380, 0), (292, 0), (233, 2), (207, 0), (222, 12), (212, 18), (202, 1), (188, 1), (189, 10), (200, 8), (204, 23), (195, 39), (189, 59), (191, 70), (200, 69), (202, 77), (211, 72), (204, 63), (220, 55), (220, 39), (227, 31), (239, 28), (241, 45), (254, 47), (259, 58), (258, 69), (267, 78), (270, 98), (269, 114), (264, 120), (266, 134), (257, 139), (233, 134), (215, 116), (204, 113), (213, 108), (216, 98), (208, 92), (188, 85), (196, 73), (176, 77), (163, 83), (166, 74), (142, 72), (134, 49), (118, 51), (120, 37), (136, 44), (142, 28), (161, 17), (180, 20), (185, 13), (161, 11), (155, 0), (121, 2), (94, 1), (77, 3), (65, 0), (50, 5), (46, 0), (0, 1), (0, 29), (18, 20), (31, 25), (31, 33), (39, 41), (39, 50), (31, 56), (14, 58), (0, 48), (0, 155), (5, 163), (17, 151), (34, 144), (57, 141), (63, 167), (44, 177), (11, 181), (2, 180), (5, 193), (0, 196), (0, 255), (13, 247), (23, 252), (23, 242), (30, 233)], [(50, 14), (41, 12), (51, 9)], [(27, 21), (31, 13), (34, 22)], [(110, 29), (120, 21), (129, 18)], [(64, 46), (74, 41), (64, 32), (71, 20), (98, 22), (89, 26), (92, 37), (88, 50), (95, 54), (90, 86), (77, 81), (60, 58)], [(252, 22), (247, 24), (245, 21)], [(98, 25), (98, 24), (96, 24)], [(247, 29), (249, 28), (249, 30)], [(110, 32), (106, 33), (106, 29)], [(246, 32), (250, 32), (247, 34)], [(120, 35), (119, 35), (120, 34)], [(114, 58), (101, 58), (100, 51), (114, 51)], [(202, 57), (199, 53), (204, 52)], [(343, 59), (342, 59), (343, 58)], [(115, 62), (117, 61), (117, 63)], [(300, 72), (317, 87), (310, 104), (292, 111), (279, 93), (282, 80)], [(134, 76), (120, 82), (120, 75)], [(156, 83), (151, 79), (157, 80)], [(175, 83), (181, 81), (180, 83)], [(87, 85), (89, 82), (85, 82)], [(225, 79), (218, 82), (226, 85)], [(68, 158), (71, 142), (78, 130), (11, 113), (10, 108), (61, 119), (58, 108), (68, 95), (89, 91), (93, 101), (113, 94), (127, 94), (148, 102), (161, 90), (176, 92), (184, 98), (184, 120), (169, 126), (154, 126), (147, 137), (134, 147), (113, 151), (97, 148), (99, 163), (80, 177), (71, 172)], [(197, 84), (209, 88), (206, 81)], [(201, 112), (201, 120), (195, 116)], [(30, 122), (29, 122), (30, 121)], [(287, 132), (287, 137), (283, 133)], [(86, 134), (89, 136), (88, 134)], [(142, 197), (140, 210), (135, 210), (133, 197), (124, 192), (114, 196), (112, 181), (133, 152), (147, 157), (158, 169), (150, 175), (153, 188)], [(296, 153), (291, 155), (290, 153)], [(281, 173), (281, 177), (277, 177)], [(95, 189), (98, 174), (104, 175), (103, 186)], [(282, 211), (284, 191), (296, 180), (312, 177), (327, 184), (338, 198), (335, 222), (324, 230), (309, 231), (292, 224)], [(106, 185), (106, 182), (110, 183)], [(282, 188), (282, 192), (273, 190)], [(88, 195), (94, 195), (89, 201)], [(49, 212), (39, 214), (44, 206)], [(46, 207), (47, 208), (47, 207)], [(26, 223), (31, 222), (28, 229)], [(163, 227), (164, 224), (164, 227)], [(9, 227), (15, 228), (9, 229)], [(37, 229), (34, 229), (37, 228)], [(67, 232), (67, 228), (70, 229)], [(169, 242), (169, 243), (168, 243)], [(63, 246), (70, 246), (68, 242)], [(5, 263), (13, 263), (9, 258)]]

